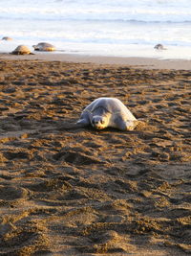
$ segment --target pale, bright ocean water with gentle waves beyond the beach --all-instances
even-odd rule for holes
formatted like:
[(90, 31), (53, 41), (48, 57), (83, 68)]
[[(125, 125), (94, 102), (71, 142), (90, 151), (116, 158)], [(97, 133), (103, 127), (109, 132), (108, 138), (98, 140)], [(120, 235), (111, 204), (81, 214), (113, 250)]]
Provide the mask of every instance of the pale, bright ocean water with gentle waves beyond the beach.
[[(1, 0), (0, 52), (50, 42), (57, 52), (191, 59), (191, 0)], [(163, 44), (167, 50), (157, 51)]]

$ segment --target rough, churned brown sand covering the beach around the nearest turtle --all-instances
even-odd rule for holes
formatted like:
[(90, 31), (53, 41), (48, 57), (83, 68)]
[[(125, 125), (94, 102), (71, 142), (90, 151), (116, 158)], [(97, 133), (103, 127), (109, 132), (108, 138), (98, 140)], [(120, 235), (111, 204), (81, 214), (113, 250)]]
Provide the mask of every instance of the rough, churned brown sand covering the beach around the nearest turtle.
[[(190, 71), (1, 59), (0, 86), (0, 255), (191, 253)], [(100, 96), (145, 128), (77, 128)]]

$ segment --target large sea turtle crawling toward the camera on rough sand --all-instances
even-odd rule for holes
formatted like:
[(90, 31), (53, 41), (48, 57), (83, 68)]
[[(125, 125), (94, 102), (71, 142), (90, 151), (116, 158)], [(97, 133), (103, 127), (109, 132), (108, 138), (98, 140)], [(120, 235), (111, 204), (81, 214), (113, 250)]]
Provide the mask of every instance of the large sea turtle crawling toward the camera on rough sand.
[(93, 128), (118, 128), (133, 130), (138, 121), (131, 111), (117, 98), (98, 98), (82, 111), (77, 125)]

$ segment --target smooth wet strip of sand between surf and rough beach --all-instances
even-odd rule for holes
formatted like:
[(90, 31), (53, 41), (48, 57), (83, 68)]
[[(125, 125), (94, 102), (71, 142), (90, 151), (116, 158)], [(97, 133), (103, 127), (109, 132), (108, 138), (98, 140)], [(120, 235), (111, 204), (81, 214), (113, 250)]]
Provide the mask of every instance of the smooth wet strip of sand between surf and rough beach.
[(0, 54), (0, 59), (9, 60), (46, 60), (64, 61), (74, 63), (95, 63), (109, 65), (125, 65), (141, 69), (175, 69), (191, 70), (191, 60), (187, 59), (159, 59), (138, 57), (104, 57), (77, 54), (37, 53), (34, 55), (15, 56), (11, 54)]

